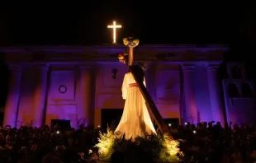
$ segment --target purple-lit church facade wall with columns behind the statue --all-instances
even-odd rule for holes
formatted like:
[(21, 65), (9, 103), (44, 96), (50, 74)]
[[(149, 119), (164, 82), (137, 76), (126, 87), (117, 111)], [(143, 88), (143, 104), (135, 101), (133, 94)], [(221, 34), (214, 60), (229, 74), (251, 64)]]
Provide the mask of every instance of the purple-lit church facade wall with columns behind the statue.
[[(149, 51), (149, 49), (149, 46), (142, 46), (135, 51), (144, 52), (145, 50)], [(161, 53), (180, 52), (187, 49), (195, 49), (200, 53), (207, 53), (208, 50), (224, 50), (223, 47), (200, 49), (182, 46), (156, 47), (154, 45), (152, 45), (152, 49), (157, 49)], [(18, 49), (16, 50), (18, 51)], [(103, 53), (102, 58), (105, 54), (105, 57), (110, 58), (110, 54), (116, 54), (117, 57), (117, 54), (124, 48), (123, 46), (116, 48), (106, 46), (98, 49), (95, 47), (77, 49), (69, 47), (59, 47), (58, 49), (55, 47), (43, 50), (31, 49), (31, 51), (33, 50), (60, 54), (76, 53), (78, 56), (85, 52), (89, 55), (93, 51), (95, 52), (92, 53), (94, 57), (101, 57), (98, 54)], [(70, 56), (64, 55), (63, 58), (67, 60), (67, 58), (72, 58), (71, 54)], [(57, 61), (59, 61), (58, 59), (56, 58)], [(82, 62), (67, 62), (67, 64), (55, 62), (37, 66), (36, 63), (33, 64), (26, 66), (24, 63), (23, 69), (17, 65), (9, 65), (11, 80), (4, 125), (19, 127), (21, 123), (25, 125), (31, 120), (36, 120), (33, 125), (40, 127), (45, 123), (50, 125), (51, 119), (69, 119), (72, 127), (76, 128), (75, 119), (84, 118), (88, 125), (97, 126), (101, 125), (100, 109), (123, 108), (124, 101), (121, 100), (120, 95), (121, 83), (127, 68), (118, 63), (117, 58), (116, 62), (97, 62), (94, 65), (94, 73), (91, 66), (81, 65)], [(49, 64), (51, 64), (50, 69), (47, 66)], [(183, 62), (156, 62), (153, 68), (154, 73), (147, 74), (147, 88), (150, 89), (149, 92), (163, 118), (181, 118), (184, 122), (193, 123), (214, 120), (220, 121), (224, 125), (224, 109), (221, 104), (222, 92), (220, 92), (216, 73), (219, 64), (218, 62), (200, 65)], [(178, 69), (176, 66), (183, 68)], [(118, 76), (116, 76), (116, 70), (118, 70)], [(116, 79), (113, 80), (114, 78)], [(181, 89), (181, 85), (183, 85), (183, 89)], [(254, 100), (249, 97), (235, 98), (230, 100), (230, 97), (227, 97), (225, 99), (227, 120), (243, 123), (250, 119), (253, 122), (248, 117), (255, 112), (254, 107), (251, 106)], [(249, 109), (244, 112), (241, 109), (243, 107)]]

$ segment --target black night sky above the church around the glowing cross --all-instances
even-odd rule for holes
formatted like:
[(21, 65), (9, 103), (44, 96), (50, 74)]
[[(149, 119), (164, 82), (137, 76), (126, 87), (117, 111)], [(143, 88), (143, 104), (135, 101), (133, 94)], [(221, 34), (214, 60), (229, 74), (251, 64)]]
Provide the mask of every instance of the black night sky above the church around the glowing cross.
[(118, 30), (119, 42), (123, 37), (135, 36), (140, 44), (229, 44), (227, 60), (249, 60), (252, 64), (256, 43), (253, 2), (1, 4), (0, 46), (109, 44), (111, 30), (107, 25), (117, 21), (123, 26)]

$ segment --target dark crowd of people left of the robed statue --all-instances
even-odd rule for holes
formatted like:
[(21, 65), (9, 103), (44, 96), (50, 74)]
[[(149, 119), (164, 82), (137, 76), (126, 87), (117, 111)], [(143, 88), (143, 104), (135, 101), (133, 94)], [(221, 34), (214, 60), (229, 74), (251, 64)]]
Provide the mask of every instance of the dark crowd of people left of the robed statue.
[[(98, 131), (80, 128), (0, 128), (0, 162), (96, 162), (92, 153)], [(93, 154), (93, 153), (92, 153)]]

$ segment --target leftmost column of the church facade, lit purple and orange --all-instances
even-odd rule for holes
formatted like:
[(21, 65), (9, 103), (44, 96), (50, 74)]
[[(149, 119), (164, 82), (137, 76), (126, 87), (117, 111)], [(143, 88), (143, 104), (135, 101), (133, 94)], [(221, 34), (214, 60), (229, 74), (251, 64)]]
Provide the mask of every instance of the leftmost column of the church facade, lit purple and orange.
[(10, 79), (7, 103), (4, 110), (3, 127), (10, 125), (12, 128), (17, 125), (17, 114), (21, 91), (21, 66), (9, 65)]

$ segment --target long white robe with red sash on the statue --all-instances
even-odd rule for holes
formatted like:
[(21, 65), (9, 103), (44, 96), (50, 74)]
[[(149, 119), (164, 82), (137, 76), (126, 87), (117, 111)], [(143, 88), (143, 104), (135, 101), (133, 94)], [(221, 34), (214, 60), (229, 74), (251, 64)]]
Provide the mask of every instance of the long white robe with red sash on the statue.
[(129, 86), (132, 83), (136, 83), (135, 78), (131, 72), (128, 72), (121, 87), (122, 97), (126, 100), (125, 108), (115, 134), (121, 136), (125, 133), (126, 139), (132, 137), (132, 140), (135, 141), (135, 137), (146, 137), (156, 132), (146, 108), (145, 99), (140, 93), (140, 88)]

